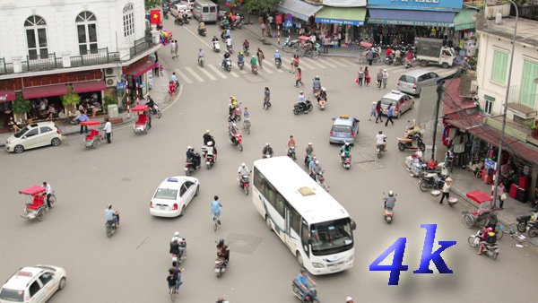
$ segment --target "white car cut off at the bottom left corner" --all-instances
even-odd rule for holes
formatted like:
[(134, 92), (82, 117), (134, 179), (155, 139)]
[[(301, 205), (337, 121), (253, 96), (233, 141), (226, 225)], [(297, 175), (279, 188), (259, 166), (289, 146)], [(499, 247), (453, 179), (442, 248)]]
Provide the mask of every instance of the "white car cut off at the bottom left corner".
[(65, 270), (51, 265), (22, 267), (0, 290), (0, 303), (47, 302), (57, 290), (65, 287)]

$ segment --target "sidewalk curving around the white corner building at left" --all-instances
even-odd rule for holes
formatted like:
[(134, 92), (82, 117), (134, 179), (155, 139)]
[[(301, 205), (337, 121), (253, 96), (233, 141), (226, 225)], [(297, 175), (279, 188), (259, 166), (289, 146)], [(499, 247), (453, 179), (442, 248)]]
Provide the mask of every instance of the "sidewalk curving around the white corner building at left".
[[(171, 102), (173, 101), (173, 100), (169, 100), (168, 85), (169, 85), (169, 75), (167, 74), (167, 69), (165, 68), (164, 74), (161, 75), (161, 77), (157, 77), (157, 78), (153, 77), (152, 90), (149, 91), (150, 96), (152, 96), (152, 99), (155, 100), (157, 104), (159, 104), (159, 107), (161, 108), (161, 110), (168, 108)], [(178, 98), (178, 96), (179, 94), (177, 94), (176, 98)], [(131, 108), (134, 107), (135, 105), (134, 103), (135, 103), (134, 100), (130, 101)], [(114, 124), (113, 127), (125, 126), (125, 125), (134, 123), (135, 115), (136, 115), (135, 113), (131, 112), (131, 115), (130, 115), (131, 117), (128, 117), (128, 114), (126, 111), (123, 113), (119, 113), (119, 117), (121, 117), (123, 121), (121, 123)], [(90, 117), (90, 119), (100, 121), (101, 122), (100, 128), (102, 128), (105, 126), (106, 117), (108, 116), (101, 115), (100, 117), (95, 117), (95, 118)], [(60, 129), (60, 131), (62, 132), (64, 136), (79, 134), (81, 130), (81, 126), (65, 125), (57, 121), (56, 121), (56, 127)], [(0, 134), (0, 147), (5, 147), (6, 139), (12, 134), (13, 132)]]

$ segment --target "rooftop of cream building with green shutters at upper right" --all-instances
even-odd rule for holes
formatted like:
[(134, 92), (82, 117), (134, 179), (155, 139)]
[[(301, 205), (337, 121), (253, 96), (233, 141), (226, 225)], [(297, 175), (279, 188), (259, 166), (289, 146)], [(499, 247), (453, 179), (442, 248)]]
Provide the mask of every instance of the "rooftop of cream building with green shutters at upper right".
[[(516, 18), (503, 18), (500, 24), (495, 20), (486, 20), (482, 13), (476, 14), (476, 30), (482, 33), (512, 39)], [(519, 18), (517, 21), (517, 42), (538, 48), (538, 22)]]

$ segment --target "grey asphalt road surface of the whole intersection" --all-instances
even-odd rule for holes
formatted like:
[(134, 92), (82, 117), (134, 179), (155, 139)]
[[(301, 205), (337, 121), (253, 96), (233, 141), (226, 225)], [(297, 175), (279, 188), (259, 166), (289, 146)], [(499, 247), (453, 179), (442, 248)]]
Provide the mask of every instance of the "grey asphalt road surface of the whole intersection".
[[(246, 196), (236, 181), (241, 162), (252, 168), (265, 143), (271, 143), (275, 155), (285, 155), (287, 139), (293, 134), (299, 145), (299, 164), (302, 166), (307, 143), (313, 143), (330, 194), (357, 222), (354, 267), (315, 276), (321, 300), (343, 302), (346, 296), (356, 302), (508, 302), (533, 298), (538, 281), (534, 248), (515, 247), (514, 240), (505, 236), (499, 242), (496, 261), (476, 255), (467, 244), (467, 237), (476, 229), (465, 229), (460, 215), (467, 205), (439, 205), (437, 199), (419, 191), (417, 179), (404, 169), (407, 152), (397, 150), (396, 138), (403, 133), (405, 121), (416, 115), (421, 100), (417, 99), (415, 108), (401, 119), (395, 119), (394, 126), (369, 121), (372, 101), (395, 89), (396, 79), (404, 71), (401, 66), (389, 67), (386, 90), (377, 90), (373, 85), (360, 88), (353, 82), (360, 65), (351, 58), (304, 59), (305, 87), (298, 89), (293, 86), (294, 75), (288, 73), (291, 55), (284, 54), (282, 70), (276, 70), (271, 59), (274, 48), (261, 46), (247, 30), (232, 32), (236, 51), (232, 72), (228, 73), (220, 67), (221, 54), (210, 48), (216, 26), (208, 25), (207, 37), (200, 37), (196, 22), (177, 27), (169, 20), (166, 25), (179, 41), (179, 57), (172, 59), (169, 48), (162, 48), (160, 60), (165, 76), (178, 74), (182, 88), (178, 101), (160, 120), (153, 121), (150, 134), (134, 135), (132, 126), (121, 126), (114, 129), (112, 144), (98, 150), (86, 150), (80, 144), (82, 136), (74, 135), (58, 148), (18, 155), (0, 153), (0, 176), (5, 180), (0, 185), (0, 277), (7, 279), (25, 265), (53, 264), (64, 267), (67, 273), (65, 290), (58, 292), (53, 302), (166, 302), (169, 240), (178, 230), (187, 238), (178, 301), (214, 302), (223, 296), (230, 303), (296, 302), (291, 281), (299, 273), (299, 264), (266, 228), (251, 195)], [(236, 55), (243, 39), (251, 41), (251, 52), (258, 47), (265, 52), (264, 69), (258, 75), (237, 68)], [(205, 50), (204, 68), (196, 64), (198, 48)], [(370, 73), (375, 75), (382, 66), (374, 65)], [(451, 73), (428, 68), (441, 75)], [(314, 99), (311, 80), (315, 75), (327, 89), (327, 108), (320, 111), (316, 106), (308, 115), (293, 115), (291, 108), (300, 90)], [(267, 111), (262, 108), (265, 87), (272, 91), (273, 107)], [(252, 115), (252, 132), (244, 134), (243, 152), (228, 141), (230, 95), (250, 108)], [(328, 143), (332, 117), (342, 114), (360, 119), (349, 171), (339, 162), (339, 146)], [(200, 180), (200, 195), (181, 218), (151, 216), (149, 203), (156, 186), (165, 177), (183, 174), (187, 145), (199, 152), (206, 129), (214, 135), (219, 153), (213, 169), (194, 173)], [(378, 130), (388, 137), (388, 152), (375, 161)], [(56, 208), (44, 221), (25, 221), (20, 216), (24, 199), (17, 193), (45, 180), (56, 191)], [(383, 220), (381, 198), (391, 189), (398, 195), (395, 221), (388, 225)], [(219, 195), (223, 203), (222, 226), (216, 232), (210, 214), (213, 195)], [(121, 228), (112, 238), (107, 238), (104, 230), (103, 211), (108, 203), (121, 214)], [(436, 241), (457, 241), (456, 247), (442, 254), (453, 274), (438, 274), (433, 264), (433, 274), (412, 273), (419, 266), (424, 223), (438, 224)], [(401, 273), (400, 285), (387, 286), (388, 273), (369, 272), (369, 264), (401, 237), (407, 238), (404, 264), (409, 265), (409, 271)], [(221, 279), (213, 273), (215, 241), (219, 238), (226, 238), (231, 247), (228, 271)]]

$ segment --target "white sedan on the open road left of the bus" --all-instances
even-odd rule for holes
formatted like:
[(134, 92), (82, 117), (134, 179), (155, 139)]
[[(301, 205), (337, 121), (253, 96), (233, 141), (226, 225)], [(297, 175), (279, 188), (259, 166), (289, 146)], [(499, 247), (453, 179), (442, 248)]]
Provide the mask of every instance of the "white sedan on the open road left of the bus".
[(200, 182), (195, 177), (167, 177), (153, 194), (150, 213), (157, 217), (182, 216), (199, 190)]

